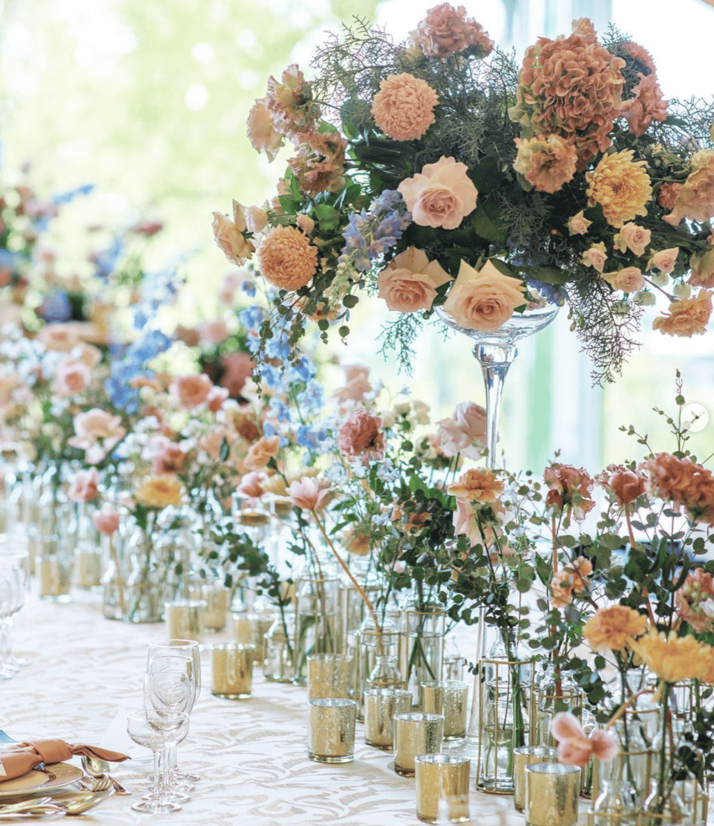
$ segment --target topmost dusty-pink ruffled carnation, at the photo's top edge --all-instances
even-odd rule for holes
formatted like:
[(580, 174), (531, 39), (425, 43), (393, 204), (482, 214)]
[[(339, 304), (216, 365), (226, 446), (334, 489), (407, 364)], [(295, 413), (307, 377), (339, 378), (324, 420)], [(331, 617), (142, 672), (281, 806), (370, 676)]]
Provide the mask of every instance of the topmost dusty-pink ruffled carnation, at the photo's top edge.
[(486, 57), (493, 50), (493, 40), (472, 17), (466, 17), (463, 6), (453, 7), (448, 2), (430, 8), (421, 21), (412, 43), (427, 57), (442, 60), (466, 52), (477, 58)]

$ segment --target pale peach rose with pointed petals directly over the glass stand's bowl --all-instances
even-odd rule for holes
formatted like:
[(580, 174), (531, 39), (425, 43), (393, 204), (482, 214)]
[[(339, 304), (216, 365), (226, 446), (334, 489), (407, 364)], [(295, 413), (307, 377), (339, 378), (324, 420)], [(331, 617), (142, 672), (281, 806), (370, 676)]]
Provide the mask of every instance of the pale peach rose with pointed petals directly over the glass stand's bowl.
[(459, 327), (488, 332), (497, 330), (511, 318), (516, 307), (524, 306), (523, 284), (500, 273), (491, 261), (477, 272), (465, 261), (444, 302), (444, 310)]

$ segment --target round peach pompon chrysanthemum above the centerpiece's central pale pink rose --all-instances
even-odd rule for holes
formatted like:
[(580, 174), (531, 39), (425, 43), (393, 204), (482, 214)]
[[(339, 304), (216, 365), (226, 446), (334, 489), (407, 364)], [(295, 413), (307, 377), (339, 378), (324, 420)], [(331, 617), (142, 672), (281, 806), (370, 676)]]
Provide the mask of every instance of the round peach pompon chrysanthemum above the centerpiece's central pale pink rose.
[(371, 112), (374, 122), (393, 140), (417, 140), (434, 122), (439, 97), (413, 74), (390, 74), (379, 84)]

